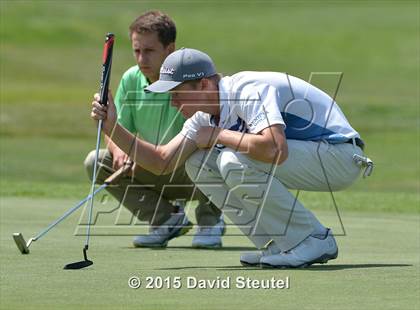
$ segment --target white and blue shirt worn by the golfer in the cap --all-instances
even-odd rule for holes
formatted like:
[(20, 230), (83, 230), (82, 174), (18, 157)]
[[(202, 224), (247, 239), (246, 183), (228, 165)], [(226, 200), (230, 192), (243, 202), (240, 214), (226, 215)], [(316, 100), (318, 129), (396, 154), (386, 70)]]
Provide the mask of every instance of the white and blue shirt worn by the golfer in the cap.
[[(219, 82), (219, 127), (257, 134), (274, 124), (287, 139), (343, 143), (360, 138), (336, 102), (299, 78), (278, 72), (239, 72)], [(214, 117), (195, 113), (181, 134), (195, 140), (202, 126), (216, 126)]]

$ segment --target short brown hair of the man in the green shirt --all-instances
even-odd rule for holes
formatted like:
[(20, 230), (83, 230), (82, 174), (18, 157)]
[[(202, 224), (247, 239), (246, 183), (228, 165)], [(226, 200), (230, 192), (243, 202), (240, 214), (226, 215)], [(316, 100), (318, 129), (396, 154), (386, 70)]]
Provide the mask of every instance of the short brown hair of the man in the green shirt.
[(137, 17), (130, 25), (130, 38), (134, 32), (154, 32), (158, 34), (160, 43), (168, 46), (175, 42), (176, 27), (174, 21), (161, 11), (149, 11)]

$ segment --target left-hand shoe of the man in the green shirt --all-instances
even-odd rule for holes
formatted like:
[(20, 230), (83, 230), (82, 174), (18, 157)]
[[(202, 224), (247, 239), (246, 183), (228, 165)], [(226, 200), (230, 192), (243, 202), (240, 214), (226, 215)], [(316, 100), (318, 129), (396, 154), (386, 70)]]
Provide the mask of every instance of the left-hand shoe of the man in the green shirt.
[(174, 213), (162, 225), (152, 228), (148, 235), (134, 238), (135, 247), (166, 247), (168, 241), (186, 234), (193, 224), (188, 220), (183, 210)]

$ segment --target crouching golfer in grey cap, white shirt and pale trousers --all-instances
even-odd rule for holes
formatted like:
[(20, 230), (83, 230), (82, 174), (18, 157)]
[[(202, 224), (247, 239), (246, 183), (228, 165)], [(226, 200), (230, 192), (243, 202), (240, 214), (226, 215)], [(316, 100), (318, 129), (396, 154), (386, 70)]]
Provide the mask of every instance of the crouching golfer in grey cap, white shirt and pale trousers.
[[(186, 162), (196, 186), (263, 249), (242, 254), (243, 265), (300, 267), (337, 257), (331, 230), (288, 191), (341, 190), (360, 174), (353, 157), (363, 142), (331, 97), (283, 73), (222, 78), (194, 49), (170, 54), (147, 90), (171, 91), (188, 120), (166, 145), (137, 138), (141, 151), (132, 158), (157, 174)], [(112, 97), (108, 107), (95, 99), (92, 118), (103, 119), (104, 133), (128, 153), (134, 136), (116, 123)]]

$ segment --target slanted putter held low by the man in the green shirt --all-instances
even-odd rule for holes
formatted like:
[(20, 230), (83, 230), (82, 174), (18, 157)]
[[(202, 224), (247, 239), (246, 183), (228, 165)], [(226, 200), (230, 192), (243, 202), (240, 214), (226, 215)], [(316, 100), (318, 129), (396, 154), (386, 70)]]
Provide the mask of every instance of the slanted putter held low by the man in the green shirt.
[[(124, 165), (115, 171), (112, 175), (110, 175), (105, 181), (104, 184), (102, 184), (100, 187), (98, 187), (95, 192), (93, 193), (93, 196), (101, 192), (103, 189), (105, 189), (108, 185), (112, 184), (113, 182), (118, 181), (118, 179), (125, 175), (132, 167), (132, 162), (126, 162)], [(57, 226), (59, 223), (61, 223), (63, 220), (65, 220), (68, 216), (70, 216), (72, 213), (74, 213), (76, 210), (78, 210), (81, 206), (83, 206), (87, 201), (89, 201), (91, 198), (91, 194), (89, 194), (87, 197), (85, 197), (83, 200), (77, 203), (74, 207), (67, 210), (62, 216), (60, 216), (57, 220), (52, 222), (50, 225), (48, 225), (47, 228), (40, 231), (35, 237), (32, 237), (28, 240), (28, 242), (25, 241), (23, 238), (22, 233), (14, 233), (13, 239), (15, 240), (16, 246), (18, 247), (19, 251), (22, 254), (29, 254), (29, 247), (32, 244), (32, 242), (35, 242), (39, 239), (41, 239), (46, 233), (48, 233), (52, 228)]]

